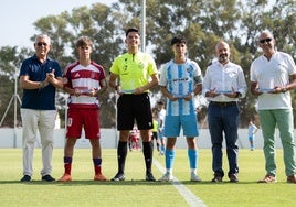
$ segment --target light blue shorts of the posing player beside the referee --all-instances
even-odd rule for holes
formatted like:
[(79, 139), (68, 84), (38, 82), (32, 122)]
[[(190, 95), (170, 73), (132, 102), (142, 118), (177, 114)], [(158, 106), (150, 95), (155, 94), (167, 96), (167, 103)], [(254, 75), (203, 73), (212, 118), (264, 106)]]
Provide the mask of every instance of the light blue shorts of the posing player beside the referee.
[(175, 138), (180, 135), (181, 128), (184, 137), (198, 137), (197, 115), (166, 116), (163, 135)]

